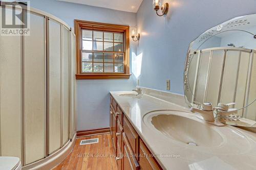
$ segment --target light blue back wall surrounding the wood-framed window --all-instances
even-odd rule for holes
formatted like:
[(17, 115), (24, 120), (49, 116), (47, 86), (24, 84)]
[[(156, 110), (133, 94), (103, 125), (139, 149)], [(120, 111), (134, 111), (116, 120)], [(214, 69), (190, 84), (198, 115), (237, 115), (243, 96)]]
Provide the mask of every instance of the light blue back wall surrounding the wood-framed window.
[[(31, 0), (31, 7), (53, 14), (71, 27), (74, 19), (136, 26), (136, 13), (131, 12), (56, 0)], [(130, 47), (132, 58), (132, 54), (136, 54), (136, 43), (131, 42)], [(134, 76), (130, 80), (78, 80), (77, 130), (109, 127), (109, 91), (132, 90), (135, 85)]]

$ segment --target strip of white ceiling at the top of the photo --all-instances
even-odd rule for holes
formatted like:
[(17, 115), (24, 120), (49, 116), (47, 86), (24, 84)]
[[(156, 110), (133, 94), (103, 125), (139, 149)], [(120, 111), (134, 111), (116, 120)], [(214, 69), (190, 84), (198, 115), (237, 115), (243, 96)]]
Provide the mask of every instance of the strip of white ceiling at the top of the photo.
[(58, 0), (119, 11), (137, 12), (143, 0)]

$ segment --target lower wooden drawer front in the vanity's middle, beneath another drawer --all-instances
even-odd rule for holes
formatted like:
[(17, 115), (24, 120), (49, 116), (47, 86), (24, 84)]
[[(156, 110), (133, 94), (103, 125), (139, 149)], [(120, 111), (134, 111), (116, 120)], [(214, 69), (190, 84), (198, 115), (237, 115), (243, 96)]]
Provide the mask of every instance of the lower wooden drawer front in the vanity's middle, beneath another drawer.
[(131, 145), (123, 132), (123, 170), (139, 170), (140, 165), (134, 155)]

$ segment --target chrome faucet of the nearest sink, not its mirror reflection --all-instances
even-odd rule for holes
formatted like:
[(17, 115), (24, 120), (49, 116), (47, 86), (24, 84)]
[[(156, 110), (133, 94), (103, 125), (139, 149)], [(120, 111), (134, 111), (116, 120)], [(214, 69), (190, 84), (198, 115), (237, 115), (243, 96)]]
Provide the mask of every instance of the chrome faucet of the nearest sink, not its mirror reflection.
[(190, 111), (195, 113), (201, 114), (201, 116), (204, 118), (207, 122), (215, 122), (214, 118), (214, 108), (212, 107), (211, 103), (203, 103), (202, 109), (191, 107)]

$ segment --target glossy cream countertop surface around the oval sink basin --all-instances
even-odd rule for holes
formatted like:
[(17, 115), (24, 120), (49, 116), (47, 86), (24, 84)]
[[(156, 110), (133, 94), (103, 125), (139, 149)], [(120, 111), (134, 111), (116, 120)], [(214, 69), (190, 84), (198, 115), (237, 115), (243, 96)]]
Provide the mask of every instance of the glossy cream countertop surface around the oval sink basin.
[(197, 118), (194, 113), (184, 113), (186, 117), (207, 124), (223, 138), (223, 142), (217, 147), (190, 146), (164, 135), (153, 125), (143, 122), (143, 117), (150, 114), (148, 112), (155, 110), (188, 112), (188, 108), (147, 94), (139, 98), (131, 98), (118, 95), (131, 91), (110, 93), (148, 149), (158, 156), (156, 159), (164, 169), (256, 169), (256, 134), (228, 125), (212, 126)]

